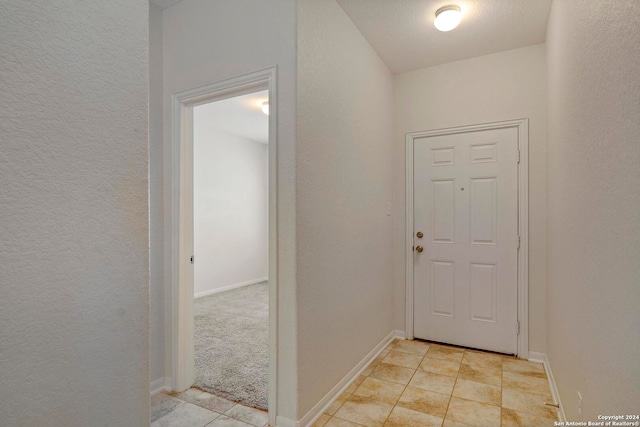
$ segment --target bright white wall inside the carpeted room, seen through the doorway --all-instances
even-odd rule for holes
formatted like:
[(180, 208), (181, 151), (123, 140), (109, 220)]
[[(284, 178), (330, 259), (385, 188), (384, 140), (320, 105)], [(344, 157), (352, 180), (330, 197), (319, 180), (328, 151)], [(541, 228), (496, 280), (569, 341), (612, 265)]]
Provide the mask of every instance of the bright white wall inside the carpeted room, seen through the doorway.
[(194, 111), (194, 293), (269, 275), (267, 144), (207, 126)]

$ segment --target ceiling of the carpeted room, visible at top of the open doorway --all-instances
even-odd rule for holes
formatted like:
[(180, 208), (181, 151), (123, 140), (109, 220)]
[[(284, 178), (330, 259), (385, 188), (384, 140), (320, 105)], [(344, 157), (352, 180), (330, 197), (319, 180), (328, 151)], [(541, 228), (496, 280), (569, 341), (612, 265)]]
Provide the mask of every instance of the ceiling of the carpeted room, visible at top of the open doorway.
[(269, 143), (269, 116), (262, 112), (268, 91), (227, 98), (193, 109), (194, 123), (252, 141)]

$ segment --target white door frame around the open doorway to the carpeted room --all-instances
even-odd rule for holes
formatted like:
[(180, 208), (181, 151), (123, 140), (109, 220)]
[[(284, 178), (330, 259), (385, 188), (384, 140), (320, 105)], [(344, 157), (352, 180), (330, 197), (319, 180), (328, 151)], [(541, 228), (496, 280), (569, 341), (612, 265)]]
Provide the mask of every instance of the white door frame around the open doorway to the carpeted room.
[(275, 425), (278, 351), (277, 67), (271, 66), (171, 96), (171, 380), (193, 384), (193, 107), (261, 90), (269, 91), (269, 421)]

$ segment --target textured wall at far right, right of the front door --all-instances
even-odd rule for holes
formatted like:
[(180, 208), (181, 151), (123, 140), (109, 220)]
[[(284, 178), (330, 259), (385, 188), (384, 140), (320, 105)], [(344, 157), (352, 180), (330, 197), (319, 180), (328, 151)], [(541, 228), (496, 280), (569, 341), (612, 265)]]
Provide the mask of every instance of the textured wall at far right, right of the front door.
[(640, 3), (549, 20), (548, 346), (567, 418), (640, 402)]

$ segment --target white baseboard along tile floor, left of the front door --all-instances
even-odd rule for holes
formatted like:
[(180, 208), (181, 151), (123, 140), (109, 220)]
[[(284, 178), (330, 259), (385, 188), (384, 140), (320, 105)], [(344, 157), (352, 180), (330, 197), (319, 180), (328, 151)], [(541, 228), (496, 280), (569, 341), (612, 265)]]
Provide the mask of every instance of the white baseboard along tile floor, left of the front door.
[[(358, 378), (360, 373), (384, 350), (395, 338), (404, 339), (404, 331), (391, 331), (373, 350), (367, 354), (345, 377), (338, 382), (329, 392), (307, 414), (295, 423), (295, 427), (309, 427), (315, 423), (324, 411), (331, 406), (334, 400), (344, 392), (351, 383)], [(278, 427), (294, 427), (294, 424), (288, 424), (290, 420), (286, 420), (280, 424), (281, 418), (278, 417)], [(284, 419), (282, 420), (284, 421)]]

